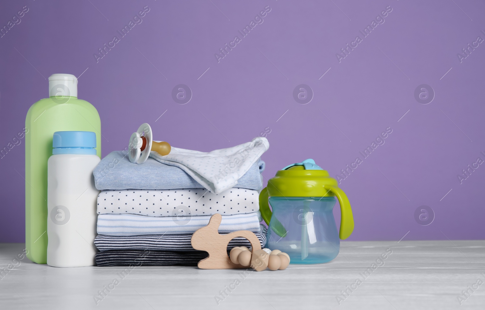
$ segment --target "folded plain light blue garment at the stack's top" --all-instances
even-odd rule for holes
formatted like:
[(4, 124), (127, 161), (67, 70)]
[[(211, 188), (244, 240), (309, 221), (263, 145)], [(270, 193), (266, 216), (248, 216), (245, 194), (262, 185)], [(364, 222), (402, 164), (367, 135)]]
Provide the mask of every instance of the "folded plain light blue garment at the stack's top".
[[(261, 172), (265, 164), (259, 159), (238, 180), (237, 187), (260, 190), (263, 187)], [(94, 169), (98, 190), (122, 189), (178, 189), (200, 188), (200, 184), (182, 169), (148, 158), (146, 163), (130, 163), (126, 151), (113, 151)]]

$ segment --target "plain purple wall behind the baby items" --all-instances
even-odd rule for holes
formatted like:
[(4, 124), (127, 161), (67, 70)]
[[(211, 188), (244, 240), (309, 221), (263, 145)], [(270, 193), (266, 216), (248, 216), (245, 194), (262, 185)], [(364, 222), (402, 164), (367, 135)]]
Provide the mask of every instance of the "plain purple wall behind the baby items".
[[(0, 38), (2, 148), (22, 130), (32, 103), (48, 96), (49, 75), (84, 72), (79, 98), (99, 111), (103, 156), (124, 149), (144, 122), (158, 139), (203, 151), (271, 131), (266, 180), (307, 158), (333, 177), (362, 159), (340, 185), (356, 221), (349, 240), (397, 241), (408, 231), (404, 240), (485, 237), (485, 165), (462, 184), (457, 177), (478, 157), (485, 160), (485, 43), (476, 42), (469, 55), (462, 51), (485, 38), (483, 1), (22, 0), (1, 6), (2, 26), (29, 8)], [(142, 23), (121, 37), (117, 31), (145, 6), (150, 11)], [(242, 37), (238, 31), (266, 6), (271, 11), (262, 24)], [(364, 37), (359, 31), (388, 6), (385, 22)], [(115, 35), (120, 42), (97, 61), (94, 53)], [(241, 42), (218, 63), (214, 54), (236, 35)], [(362, 41), (352, 43), (357, 35)], [(357, 47), (339, 62), (336, 53), (347, 43)], [(460, 52), (467, 56), (461, 62)], [(178, 84), (192, 90), (186, 104), (172, 98)], [(293, 97), (299, 84), (312, 89), (307, 104)], [(434, 90), (428, 104), (415, 98), (420, 84)], [(385, 144), (364, 159), (359, 152), (388, 127)], [(22, 140), (0, 160), (0, 242), (24, 241), (24, 165)], [(431, 224), (426, 215), (415, 218), (423, 205)]]

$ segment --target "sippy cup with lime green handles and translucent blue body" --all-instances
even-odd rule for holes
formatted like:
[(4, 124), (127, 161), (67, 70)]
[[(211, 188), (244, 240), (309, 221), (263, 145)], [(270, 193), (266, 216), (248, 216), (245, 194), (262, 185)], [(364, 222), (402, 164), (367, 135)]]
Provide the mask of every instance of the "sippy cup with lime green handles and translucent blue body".
[[(335, 196), (341, 213), (339, 233), (332, 213)], [(339, 239), (347, 239), (354, 230), (349, 199), (337, 180), (312, 159), (276, 172), (259, 194), (259, 211), (269, 226), (266, 247), (286, 252), (294, 264), (333, 260), (339, 254)]]

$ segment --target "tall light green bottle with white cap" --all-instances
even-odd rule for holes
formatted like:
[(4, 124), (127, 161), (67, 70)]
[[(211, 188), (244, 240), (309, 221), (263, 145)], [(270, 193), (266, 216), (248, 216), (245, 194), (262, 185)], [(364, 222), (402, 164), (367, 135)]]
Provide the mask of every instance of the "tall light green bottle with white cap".
[(78, 99), (72, 74), (49, 77), (49, 98), (35, 102), (25, 118), (25, 246), (27, 257), (47, 263), (47, 160), (55, 131), (93, 131), (101, 158), (101, 121), (96, 108)]

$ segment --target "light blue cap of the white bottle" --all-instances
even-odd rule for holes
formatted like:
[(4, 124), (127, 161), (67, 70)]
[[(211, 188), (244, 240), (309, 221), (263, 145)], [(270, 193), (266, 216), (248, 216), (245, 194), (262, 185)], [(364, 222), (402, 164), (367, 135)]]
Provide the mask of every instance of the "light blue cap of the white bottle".
[(96, 133), (92, 131), (56, 131), (52, 154), (96, 155)]

